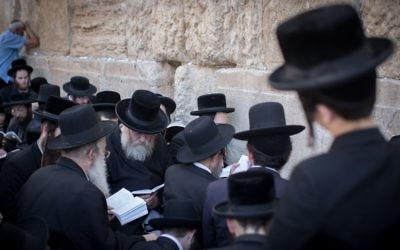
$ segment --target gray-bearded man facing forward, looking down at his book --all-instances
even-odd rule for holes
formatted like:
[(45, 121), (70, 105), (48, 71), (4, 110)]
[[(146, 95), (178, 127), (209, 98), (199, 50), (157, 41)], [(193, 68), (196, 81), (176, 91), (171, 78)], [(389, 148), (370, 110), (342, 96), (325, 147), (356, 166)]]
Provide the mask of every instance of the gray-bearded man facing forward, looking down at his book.
[[(115, 111), (121, 125), (120, 130), (107, 138), (107, 148), (111, 152), (107, 159), (111, 193), (121, 188), (129, 191), (152, 189), (164, 183), (164, 173), (171, 164), (171, 157), (160, 133), (166, 129), (168, 118), (160, 110), (157, 95), (137, 90), (132, 98), (118, 102)], [(149, 210), (153, 210), (161, 206), (162, 192), (142, 198)], [(144, 219), (134, 220), (123, 227), (115, 221), (114, 228), (140, 234), (144, 232)]]

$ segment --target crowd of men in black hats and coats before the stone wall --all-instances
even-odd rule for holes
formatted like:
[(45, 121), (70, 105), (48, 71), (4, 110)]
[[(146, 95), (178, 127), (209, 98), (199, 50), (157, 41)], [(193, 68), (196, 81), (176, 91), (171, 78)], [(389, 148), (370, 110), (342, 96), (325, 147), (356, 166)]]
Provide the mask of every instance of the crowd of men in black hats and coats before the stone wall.
[[(349, 5), (301, 13), (277, 37), (285, 62), (269, 83), (297, 92), (310, 141), (314, 123), (334, 139), (289, 180), (280, 170), (305, 127), (287, 124), (278, 102), (255, 103), (249, 129), (236, 132), (225, 95), (208, 93), (184, 126), (169, 97), (139, 89), (121, 100), (83, 76), (61, 96), (12, 61), (0, 90), (0, 248), (400, 248), (400, 148), (372, 118), (376, 67), (392, 42), (366, 37)], [(226, 166), (232, 139), (246, 141), (245, 169)], [(123, 188), (162, 184), (138, 196), (148, 214), (127, 224), (107, 205)]]

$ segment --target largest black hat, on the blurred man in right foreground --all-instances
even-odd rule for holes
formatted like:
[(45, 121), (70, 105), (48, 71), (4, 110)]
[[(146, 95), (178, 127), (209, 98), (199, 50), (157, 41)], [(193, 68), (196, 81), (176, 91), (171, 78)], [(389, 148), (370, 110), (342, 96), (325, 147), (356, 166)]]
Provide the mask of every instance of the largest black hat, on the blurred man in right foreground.
[(393, 51), (384, 38), (367, 38), (350, 5), (320, 7), (279, 25), (285, 64), (269, 77), (282, 90), (306, 90), (343, 84), (382, 63)]

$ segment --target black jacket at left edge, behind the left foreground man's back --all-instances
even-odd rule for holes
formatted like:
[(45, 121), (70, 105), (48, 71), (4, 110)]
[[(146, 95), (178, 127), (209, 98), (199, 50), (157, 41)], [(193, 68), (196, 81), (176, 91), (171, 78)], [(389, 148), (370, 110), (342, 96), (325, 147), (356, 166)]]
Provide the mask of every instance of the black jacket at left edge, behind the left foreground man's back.
[(0, 173), (0, 211), (4, 219), (15, 222), (16, 196), (29, 177), (40, 168), (42, 153), (37, 143), (7, 158)]

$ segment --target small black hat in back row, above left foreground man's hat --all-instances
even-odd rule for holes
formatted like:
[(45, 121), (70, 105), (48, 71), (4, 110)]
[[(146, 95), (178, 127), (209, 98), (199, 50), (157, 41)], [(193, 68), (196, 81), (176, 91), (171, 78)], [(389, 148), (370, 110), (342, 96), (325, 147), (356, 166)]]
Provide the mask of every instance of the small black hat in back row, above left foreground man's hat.
[(72, 96), (91, 96), (96, 93), (96, 86), (90, 84), (89, 79), (83, 76), (73, 76), (70, 81), (64, 83), (63, 89)]

